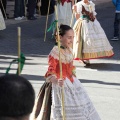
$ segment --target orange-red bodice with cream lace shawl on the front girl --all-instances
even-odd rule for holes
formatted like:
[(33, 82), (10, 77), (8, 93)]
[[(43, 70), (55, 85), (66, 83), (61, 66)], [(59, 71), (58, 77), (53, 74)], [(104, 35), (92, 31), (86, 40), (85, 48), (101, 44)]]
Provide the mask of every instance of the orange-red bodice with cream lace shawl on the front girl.
[[(59, 54), (58, 47), (55, 46), (49, 55), (49, 67), (45, 77), (55, 74), (57, 78), (60, 78), (58, 54)], [(67, 77), (71, 82), (73, 82), (72, 76), (73, 75), (75, 76), (74, 73), (75, 67), (73, 66), (73, 55), (71, 49), (67, 52), (64, 49), (61, 49), (61, 61), (63, 78), (65, 79)]]

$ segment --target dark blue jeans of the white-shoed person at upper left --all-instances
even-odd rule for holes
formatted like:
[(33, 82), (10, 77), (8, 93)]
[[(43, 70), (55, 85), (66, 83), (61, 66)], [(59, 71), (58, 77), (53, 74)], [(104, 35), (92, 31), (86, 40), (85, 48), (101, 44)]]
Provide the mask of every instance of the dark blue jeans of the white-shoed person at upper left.
[(24, 0), (15, 0), (14, 17), (25, 16)]

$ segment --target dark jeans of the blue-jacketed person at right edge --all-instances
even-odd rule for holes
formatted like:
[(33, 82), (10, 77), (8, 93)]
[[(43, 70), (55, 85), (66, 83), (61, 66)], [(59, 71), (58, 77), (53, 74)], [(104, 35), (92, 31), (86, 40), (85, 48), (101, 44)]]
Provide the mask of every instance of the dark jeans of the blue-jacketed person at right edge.
[(120, 13), (116, 13), (115, 21), (114, 21), (114, 37), (119, 37), (119, 23), (120, 23)]

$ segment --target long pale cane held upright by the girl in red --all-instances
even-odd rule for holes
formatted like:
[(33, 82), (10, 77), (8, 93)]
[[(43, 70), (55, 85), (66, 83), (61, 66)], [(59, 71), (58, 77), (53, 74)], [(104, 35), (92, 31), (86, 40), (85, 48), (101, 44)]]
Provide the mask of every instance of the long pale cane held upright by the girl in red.
[[(57, 14), (57, 7), (56, 5), (54, 6), (55, 8), (55, 16), (56, 20), (58, 20), (58, 14)], [(61, 53), (60, 53), (60, 37), (59, 37), (59, 28), (58, 28), (58, 22), (56, 23), (56, 29), (57, 29), (57, 42), (58, 42), (58, 49), (59, 49), (59, 66), (60, 66), (60, 79), (62, 79), (62, 62), (61, 62)], [(62, 86), (62, 119), (66, 120), (65, 118), (65, 104), (64, 104), (64, 87)]]

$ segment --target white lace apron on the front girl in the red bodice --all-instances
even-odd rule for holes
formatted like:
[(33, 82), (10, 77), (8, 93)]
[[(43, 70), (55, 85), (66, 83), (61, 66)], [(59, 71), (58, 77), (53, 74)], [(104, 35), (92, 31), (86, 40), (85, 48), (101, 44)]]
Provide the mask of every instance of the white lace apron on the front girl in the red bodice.
[[(81, 83), (74, 78), (64, 82), (66, 120), (100, 120), (92, 102)], [(51, 120), (62, 120), (61, 89), (52, 84)]]

